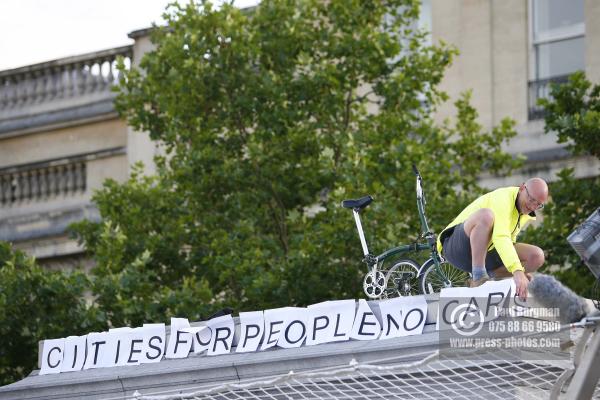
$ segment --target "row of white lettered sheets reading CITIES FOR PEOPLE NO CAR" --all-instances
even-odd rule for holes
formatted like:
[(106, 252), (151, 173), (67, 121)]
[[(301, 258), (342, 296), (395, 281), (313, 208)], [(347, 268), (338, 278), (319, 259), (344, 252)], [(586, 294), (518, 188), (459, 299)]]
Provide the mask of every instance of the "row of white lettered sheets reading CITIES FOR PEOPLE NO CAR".
[[(475, 322), (497, 318), (509, 299), (512, 280), (490, 281), (469, 288), (442, 289), (436, 329), (465, 330)], [(514, 288), (512, 288), (514, 292)], [(156, 363), (185, 358), (191, 352), (208, 356), (247, 353), (272, 347), (294, 348), (347, 340), (383, 340), (419, 335), (427, 321), (424, 296), (379, 302), (326, 301), (306, 308), (283, 307), (239, 315), (239, 333), (231, 315), (190, 326), (187, 318), (171, 318), (168, 343), (164, 324), (116, 328), (85, 336), (46, 340), (40, 375), (82, 369)], [(430, 320), (435, 319), (430, 317)], [(236, 345), (234, 346), (234, 335)], [(235, 347), (235, 349), (234, 349)]]

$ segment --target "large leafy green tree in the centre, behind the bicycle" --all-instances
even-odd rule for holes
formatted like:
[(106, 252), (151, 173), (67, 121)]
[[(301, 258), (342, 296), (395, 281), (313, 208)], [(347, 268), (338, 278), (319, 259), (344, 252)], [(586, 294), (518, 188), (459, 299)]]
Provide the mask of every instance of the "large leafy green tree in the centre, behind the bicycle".
[(469, 93), (455, 122), (434, 123), (456, 51), (426, 45), (418, 13), (409, 0), (169, 9), (116, 99), (164, 146), (159, 174), (109, 181), (94, 197), (104, 222), (76, 229), (111, 323), (361, 296), (342, 199), (374, 195), (365, 230), (383, 251), (418, 233), (413, 162), (438, 231), (480, 193), (482, 169), (518, 165), (501, 151), (514, 123), (484, 132)]

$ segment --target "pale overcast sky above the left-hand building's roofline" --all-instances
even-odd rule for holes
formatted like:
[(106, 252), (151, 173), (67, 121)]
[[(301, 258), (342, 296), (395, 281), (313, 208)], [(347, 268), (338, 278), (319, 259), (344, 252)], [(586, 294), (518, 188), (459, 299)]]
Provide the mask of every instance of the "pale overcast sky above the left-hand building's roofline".
[[(0, 71), (130, 44), (127, 34), (161, 23), (172, 2), (0, 0)], [(256, 0), (235, 4), (244, 7)]]

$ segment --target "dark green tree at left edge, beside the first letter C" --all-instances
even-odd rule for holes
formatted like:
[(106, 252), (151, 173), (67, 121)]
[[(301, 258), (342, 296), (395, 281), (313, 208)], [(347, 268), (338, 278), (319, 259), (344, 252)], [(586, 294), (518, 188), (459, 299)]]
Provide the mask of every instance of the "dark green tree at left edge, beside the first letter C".
[(38, 341), (85, 334), (105, 326), (88, 308), (81, 272), (48, 271), (0, 242), (0, 385), (37, 365)]

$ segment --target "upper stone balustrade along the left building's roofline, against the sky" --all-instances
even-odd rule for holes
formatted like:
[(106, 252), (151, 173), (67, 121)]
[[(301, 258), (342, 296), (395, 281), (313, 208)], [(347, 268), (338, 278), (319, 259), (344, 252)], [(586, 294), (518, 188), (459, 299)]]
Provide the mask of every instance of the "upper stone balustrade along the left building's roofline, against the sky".
[(0, 119), (112, 98), (117, 57), (131, 63), (132, 46), (0, 71)]

